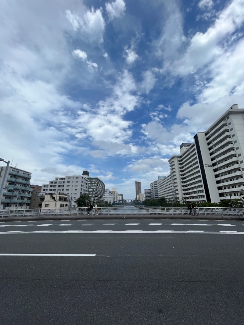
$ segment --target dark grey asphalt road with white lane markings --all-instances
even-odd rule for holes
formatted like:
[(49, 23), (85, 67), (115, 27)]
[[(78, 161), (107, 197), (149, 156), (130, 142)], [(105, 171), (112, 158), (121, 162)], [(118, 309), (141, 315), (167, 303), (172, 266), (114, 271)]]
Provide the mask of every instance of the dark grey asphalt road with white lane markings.
[(244, 324), (244, 222), (0, 225), (1, 325)]

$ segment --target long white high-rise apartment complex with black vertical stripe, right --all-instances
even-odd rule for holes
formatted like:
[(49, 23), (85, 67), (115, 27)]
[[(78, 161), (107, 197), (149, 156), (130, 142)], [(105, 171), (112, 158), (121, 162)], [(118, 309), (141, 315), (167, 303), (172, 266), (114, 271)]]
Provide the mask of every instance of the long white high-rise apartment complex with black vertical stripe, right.
[[(170, 175), (159, 196), (187, 202), (240, 198), (244, 190), (244, 109), (232, 105), (205, 132), (183, 143), (169, 159)], [(171, 178), (171, 188), (170, 188)]]

